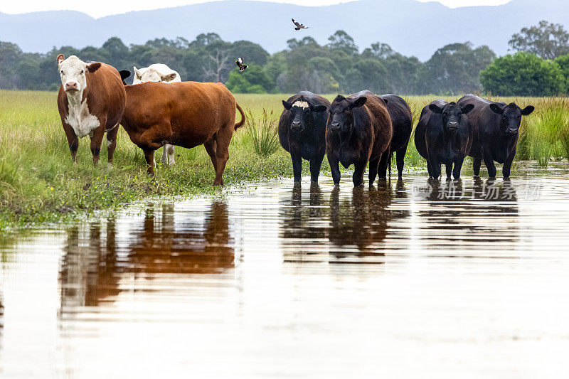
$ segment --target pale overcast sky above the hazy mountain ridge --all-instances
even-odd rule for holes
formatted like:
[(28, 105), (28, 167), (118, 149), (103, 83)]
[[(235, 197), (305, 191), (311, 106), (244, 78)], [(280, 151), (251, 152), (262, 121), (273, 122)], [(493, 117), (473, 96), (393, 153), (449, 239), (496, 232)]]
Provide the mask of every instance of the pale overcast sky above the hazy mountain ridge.
[[(326, 0), (272, 0), (278, 3), (291, 3), (305, 6), (319, 6), (327, 4), (338, 4), (347, 1), (326, 1)], [(426, 2), (429, 0), (418, 0)], [(439, 0), (440, 3), (456, 8), (458, 6), (473, 5), (500, 5), (506, 4), (509, 0)], [(171, 6), (181, 6), (187, 4), (205, 3), (203, 0), (97, 0), (97, 1), (78, 1), (78, 0), (2, 0), (0, 1), (0, 12), (7, 14), (20, 14), (32, 11), (53, 11), (53, 10), (73, 10), (81, 11), (93, 17), (109, 16), (110, 14), (122, 14), (129, 11), (143, 11), (149, 9), (169, 8)]]

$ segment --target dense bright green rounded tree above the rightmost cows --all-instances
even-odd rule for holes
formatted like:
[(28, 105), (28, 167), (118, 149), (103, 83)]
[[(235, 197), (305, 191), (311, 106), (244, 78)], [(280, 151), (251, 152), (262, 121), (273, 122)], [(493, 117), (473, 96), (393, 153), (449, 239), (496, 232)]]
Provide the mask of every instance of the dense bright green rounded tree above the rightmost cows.
[(558, 64), (523, 51), (496, 58), (480, 72), (480, 82), (499, 96), (551, 96), (566, 90)]

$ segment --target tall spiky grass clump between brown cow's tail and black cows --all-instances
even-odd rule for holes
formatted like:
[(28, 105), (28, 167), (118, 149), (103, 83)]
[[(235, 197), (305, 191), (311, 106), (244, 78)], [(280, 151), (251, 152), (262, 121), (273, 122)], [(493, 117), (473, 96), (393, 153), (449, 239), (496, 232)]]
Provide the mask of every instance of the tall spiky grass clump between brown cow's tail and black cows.
[(259, 156), (274, 154), (279, 149), (280, 142), (277, 135), (277, 120), (273, 117), (273, 111), (267, 112), (263, 108), (261, 117), (257, 119), (253, 117), (253, 113), (250, 110), (247, 113), (245, 131), (255, 153)]

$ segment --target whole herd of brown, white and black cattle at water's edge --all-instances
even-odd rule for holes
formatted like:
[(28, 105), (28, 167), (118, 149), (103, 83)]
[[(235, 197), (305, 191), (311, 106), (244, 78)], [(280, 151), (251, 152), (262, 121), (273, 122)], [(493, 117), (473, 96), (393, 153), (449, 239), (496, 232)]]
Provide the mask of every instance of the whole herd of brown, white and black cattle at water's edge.
[[(144, 151), (148, 173), (154, 174), (154, 151), (164, 146), (162, 163), (174, 164), (174, 146), (192, 148), (203, 144), (216, 171), (214, 186), (223, 185), (233, 132), (245, 123), (245, 114), (233, 94), (221, 83), (182, 82), (167, 65), (134, 68), (132, 85), (124, 79), (129, 71), (117, 71), (100, 62), (83, 62), (75, 55), (58, 55), (61, 87), (58, 108), (73, 161), (78, 138), (91, 138), (93, 163), (99, 160), (107, 133), (109, 164), (117, 143), (119, 124), (131, 141)], [(302, 91), (283, 100), (278, 134), (292, 158), (294, 181), (301, 180), (302, 159), (309, 161), (312, 181), (318, 181), (324, 155), (331, 175), (340, 182), (339, 164), (353, 164), (353, 184), (363, 184), (369, 164), (369, 183), (386, 178), (393, 154), (398, 175), (413, 132), (413, 114), (397, 95), (375, 95), (368, 90), (348, 97), (338, 95), (331, 103)], [(236, 110), (241, 120), (235, 123)], [(491, 178), (494, 161), (504, 164), (510, 175), (516, 154), (521, 117), (531, 114), (513, 102), (506, 105), (476, 95), (457, 102), (435, 100), (425, 106), (415, 129), (415, 146), (426, 159), (430, 178), (459, 178), (464, 158), (474, 159), (474, 175), (484, 164)]]

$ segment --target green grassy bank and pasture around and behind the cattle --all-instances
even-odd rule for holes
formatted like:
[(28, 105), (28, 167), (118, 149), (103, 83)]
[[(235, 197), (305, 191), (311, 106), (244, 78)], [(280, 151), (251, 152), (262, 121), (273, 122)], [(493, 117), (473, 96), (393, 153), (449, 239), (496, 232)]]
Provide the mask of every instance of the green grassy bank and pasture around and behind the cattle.
[[(230, 146), (225, 169), (226, 186), (260, 178), (292, 176), (288, 154), (277, 146), (260, 149), (256, 131), (265, 124), (276, 127), (286, 95), (236, 95), (250, 110), (252, 122), (240, 129)], [(327, 96), (332, 99), (334, 95)], [(437, 97), (405, 97), (417, 122), (420, 110)], [(445, 100), (456, 100), (447, 97)], [(510, 102), (514, 99), (500, 99)], [(569, 111), (566, 99), (515, 99), (521, 106), (532, 104), (536, 112), (524, 119), (519, 159), (538, 159), (547, 164), (550, 156), (569, 154)], [(263, 121), (263, 110), (267, 120)], [(271, 113), (272, 111), (272, 113)], [(251, 120), (250, 120), (251, 121)], [(9, 226), (68, 220), (92, 210), (119, 208), (121, 204), (147, 196), (179, 196), (220, 191), (211, 188), (213, 166), (203, 146), (176, 148), (176, 166), (146, 174), (142, 151), (130, 142), (121, 128), (115, 151), (115, 167), (106, 165), (106, 149), (93, 167), (89, 139), (80, 141), (78, 164), (70, 159), (60, 124), (55, 92), (0, 91), (0, 230)], [(103, 144), (105, 146), (105, 144)], [(161, 150), (156, 152), (156, 161)], [(413, 142), (406, 169), (424, 166)], [(469, 164), (467, 164), (469, 166)], [(308, 174), (307, 165), (304, 165)], [(326, 159), (322, 173), (329, 172)]]

